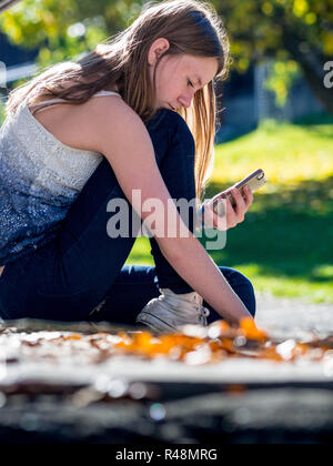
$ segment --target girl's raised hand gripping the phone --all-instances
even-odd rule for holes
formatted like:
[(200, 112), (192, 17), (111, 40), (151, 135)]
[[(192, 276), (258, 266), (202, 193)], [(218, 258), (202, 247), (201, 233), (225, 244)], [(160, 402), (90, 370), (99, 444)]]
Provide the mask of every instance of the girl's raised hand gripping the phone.
[[(253, 194), (250, 188), (244, 186), (243, 189), (244, 197), (241, 192), (233, 188), (228, 191), (231, 193), (233, 199), (235, 200), (235, 206), (233, 207), (229, 196), (225, 196), (225, 193), (219, 193), (215, 195), (209, 203), (204, 206), (204, 222), (206, 226), (211, 226), (215, 230), (226, 231), (229, 229), (235, 227), (239, 223), (242, 223), (245, 219), (245, 213), (250, 209), (251, 204), (253, 203)], [(224, 211), (226, 211), (226, 215), (223, 217), (219, 216), (213, 212), (213, 202), (218, 199), (222, 200)]]

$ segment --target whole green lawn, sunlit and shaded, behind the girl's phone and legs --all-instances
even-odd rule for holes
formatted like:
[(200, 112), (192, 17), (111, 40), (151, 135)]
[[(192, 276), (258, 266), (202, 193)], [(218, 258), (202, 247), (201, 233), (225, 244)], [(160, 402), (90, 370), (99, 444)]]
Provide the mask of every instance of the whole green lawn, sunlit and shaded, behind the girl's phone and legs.
[[(229, 230), (226, 246), (210, 255), (256, 290), (333, 303), (333, 125), (268, 122), (216, 146), (206, 197), (259, 168), (266, 186), (245, 221)], [(205, 236), (200, 241), (206, 245)], [(127, 264), (153, 265), (147, 237), (137, 240)]]

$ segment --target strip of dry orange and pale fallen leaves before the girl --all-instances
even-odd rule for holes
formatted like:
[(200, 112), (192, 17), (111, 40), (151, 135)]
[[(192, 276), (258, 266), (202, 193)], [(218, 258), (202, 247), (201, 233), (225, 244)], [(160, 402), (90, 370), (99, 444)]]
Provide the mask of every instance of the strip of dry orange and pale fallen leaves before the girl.
[[(332, 361), (333, 336), (307, 335), (303, 341), (274, 342), (252, 320), (240, 327), (218, 321), (208, 327), (184, 326), (182, 333), (154, 335), (149, 331), (93, 334), (73, 332), (19, 332), (0, 326), (0, 363), (51, 359), (54, 363), (102, 363), (119, 355), (182, 362), (186, 365), (219, 363), (229, 358), (268, 359), (275, 363)], [(332, 364), (333, 367), (333, 364)]]

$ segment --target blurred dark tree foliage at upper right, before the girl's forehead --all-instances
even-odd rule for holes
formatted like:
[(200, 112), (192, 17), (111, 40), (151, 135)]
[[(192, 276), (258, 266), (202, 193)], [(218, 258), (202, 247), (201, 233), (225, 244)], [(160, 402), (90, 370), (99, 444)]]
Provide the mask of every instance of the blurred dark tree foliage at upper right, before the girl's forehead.
[(333, 57), (333, 0), (212, 0), (232, 38), (234, 67), (245, 71), (265, 58), (276, 60), (269, 87), (283, 103), (302, 71), (323, 107), (333, 114), (324, 64)]

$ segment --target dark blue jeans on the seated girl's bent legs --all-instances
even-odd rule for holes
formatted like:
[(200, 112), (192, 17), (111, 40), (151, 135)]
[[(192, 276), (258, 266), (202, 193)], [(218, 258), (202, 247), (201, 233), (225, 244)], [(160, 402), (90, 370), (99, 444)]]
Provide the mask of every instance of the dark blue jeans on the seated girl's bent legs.
[[(195, 197), (194, 141), (185, 121), (175, 112), (160, 110), (147, 123), (157, 163), (173, 199)], [(127, 154), (123, 154), (127, 163)], [(88, 180), (58, 236), (33, 253), (9, 263), (0, 277), (0, 316), (4, 320), (109, 321), (134, 324), (137, 315), (159, 288), (175, 293), (193, 290), (178, 275), (151, 237), (155, 266), (127, 265), (137, 235), (110, 237), (107, 224), (112, 214), (109, 201), (129, 205), (129, 232), (141, 220), (132, 211), (110, 163), (104, 159)], [(180, 210), (179, 210), (180, 212)], [(113, 215), (115, 215), (113, 213)], [(193, 232), (193, 215), (185, 221)], [(220, 267), (249, 312), (255, 314), (251, 282), (240, 272)], [(100, 306), (101, 303), (104, 303)], [(211, 310), (210, 322), (220, 316)], [(92, 311), (99, 306), (99, 312)]]

